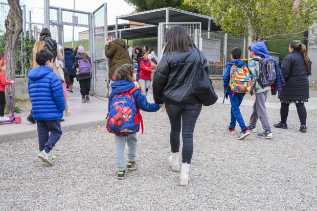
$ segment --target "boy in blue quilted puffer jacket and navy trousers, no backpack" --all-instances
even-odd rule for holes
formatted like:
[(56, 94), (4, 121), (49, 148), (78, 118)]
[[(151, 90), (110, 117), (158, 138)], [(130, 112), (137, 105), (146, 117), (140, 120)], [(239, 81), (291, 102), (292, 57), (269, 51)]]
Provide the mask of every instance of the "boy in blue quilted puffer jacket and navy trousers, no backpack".
[[(31, 69), (28, 89), (34, 119), (37, 123), (38, 145), (41, 164), (54, 164), (56, 156), (49, 156), (62, 135), (60, 119), (65, 109), (63, 87), (53, 72), (54, 55), (41, 50), (36, 54), (39, 67)], [(51, 135), (49, 134), (51, 132)]]

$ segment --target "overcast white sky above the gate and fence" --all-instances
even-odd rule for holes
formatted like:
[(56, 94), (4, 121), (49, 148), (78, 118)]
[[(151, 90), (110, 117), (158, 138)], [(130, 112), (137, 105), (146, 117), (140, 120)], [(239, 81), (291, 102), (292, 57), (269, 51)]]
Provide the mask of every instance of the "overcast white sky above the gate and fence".
[[(7, 3), (5, 0), (0, 2)], [(73, 9), (74, 0), (50, 0), (51, 6)], [(131, 13), (134, 8), (129, 6), (124, 0), (75, 0), (75, 10), (94, 12), (100, 5), (107, 3), (108, 25), (116, 23), (116, 16)], [(44, 1), (43, 0), (20, 0), (21, 5), (26, 5), (27, 21), (29, 21), (29, 11), (32, 11), (32, 22), (44, 22)], [(1, 6), (1, 27), (7, 15), (8, 7)], [(119, 23), (125, 22), (119, 20)], [(27, 27), (28, 29), (28, 27)], [(75, 27), (75, 40), (78, 40), (78, 32), (85, 31), (86, 28)], [(72, 27), (64, 26), (64, 41), (72, 40)]]

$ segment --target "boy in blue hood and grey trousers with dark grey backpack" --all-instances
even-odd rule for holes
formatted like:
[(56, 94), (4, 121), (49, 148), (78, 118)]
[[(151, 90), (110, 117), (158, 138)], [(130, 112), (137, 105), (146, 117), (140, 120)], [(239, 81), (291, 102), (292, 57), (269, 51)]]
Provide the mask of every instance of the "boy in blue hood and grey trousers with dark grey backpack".
[(250, 118), (248, 129), (251, 132), (257, 132), (256, 124), (258, 119), (262, 123), (263, 133), (258, 133), (259, 138), (272, 138), (273, 134), (268, 122), (265, 102), (271, 85), (274, 85), (277, 79), (276, 62), (269, 56), (267, 48), (263, 42), (256, 42), (248, 47), (249, 56), (252, 58), (248, 62), (250, 72), (252, 73), (252, 94), (255, 93), (255, 103)]

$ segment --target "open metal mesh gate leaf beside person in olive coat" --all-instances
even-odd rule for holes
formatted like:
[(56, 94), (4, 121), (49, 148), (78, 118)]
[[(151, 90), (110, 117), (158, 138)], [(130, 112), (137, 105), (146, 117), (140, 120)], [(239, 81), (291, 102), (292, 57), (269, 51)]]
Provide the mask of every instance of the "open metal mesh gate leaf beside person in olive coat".
[(108, 59), (104, 54), (107, 40), (107, 4), (104, 3), (93, 12), (93, 49), (95, 65), (95, 94), (102, 97), (109, 96), (108, 90)]

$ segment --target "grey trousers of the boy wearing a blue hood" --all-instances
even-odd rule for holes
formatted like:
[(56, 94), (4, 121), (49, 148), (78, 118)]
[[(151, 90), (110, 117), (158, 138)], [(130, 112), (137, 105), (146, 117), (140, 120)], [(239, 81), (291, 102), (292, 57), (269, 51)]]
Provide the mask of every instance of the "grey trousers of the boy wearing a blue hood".
[(250, 118), (250, 126), (252, 128), (256, 128), (257, 121), (258, 119), (260, 119), (265, 132), (271, 132), (271, 127), (268, 122), (268, 116), (265, 107), (265, 101), (267, 98), (268, 91), (269, 90), (260, 93), (255, 93), (255, 102), (253, 105), (253, 112)]

